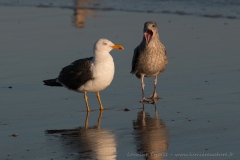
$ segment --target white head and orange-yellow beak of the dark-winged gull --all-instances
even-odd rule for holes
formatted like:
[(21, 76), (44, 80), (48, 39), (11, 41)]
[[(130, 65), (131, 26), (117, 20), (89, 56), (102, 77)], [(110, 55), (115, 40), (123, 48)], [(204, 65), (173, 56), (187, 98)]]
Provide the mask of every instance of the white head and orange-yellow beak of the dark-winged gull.
[(118, 50), (123, 50), (123, 46), (114, 44), (111, 41), (107, 39), (99, 39), (95, 44), (94, 44), (94, 53), (97, 52), (107, 52), (109, 53), (113, 49), (118, 49)]

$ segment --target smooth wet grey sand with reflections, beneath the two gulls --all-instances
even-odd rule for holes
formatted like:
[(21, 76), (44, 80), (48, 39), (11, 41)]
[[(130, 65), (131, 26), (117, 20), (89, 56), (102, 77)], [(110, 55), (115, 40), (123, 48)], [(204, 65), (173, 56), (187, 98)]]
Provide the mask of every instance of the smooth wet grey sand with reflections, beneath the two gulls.
[[(119, 11), (86, 16), (79, 29), (73, 10), (0, 8), (0, 159), (239, 159), (239, 20)], [(145, 104), (143, 112), (130, 66), (148, 20), (158, 23), (169, 65), (159, 76), (156, 111)], [(102, 37), (125, 50), (111, 52), (116, 72), (101, 92), (106, 110), (101, 115), (88, 93), (87, 115), (82, 94), (42, 80), (91, 56)], [(146, 78), (146, 95), (152, 90), (153, 78)]]

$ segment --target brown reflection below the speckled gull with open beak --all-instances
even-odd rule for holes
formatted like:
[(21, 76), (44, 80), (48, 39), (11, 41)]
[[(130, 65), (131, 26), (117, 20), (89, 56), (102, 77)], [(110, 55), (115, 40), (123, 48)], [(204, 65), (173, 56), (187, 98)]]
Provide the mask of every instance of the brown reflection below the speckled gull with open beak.
[(155, 116), (143, 110), (138, 112), (137, 120), (133, 121), (134, 135), (137, 141), (137, 152), (147, 160), (162, 160), (167, 156), (168, 130), (164, 122), (158, 118), (155, 103)]

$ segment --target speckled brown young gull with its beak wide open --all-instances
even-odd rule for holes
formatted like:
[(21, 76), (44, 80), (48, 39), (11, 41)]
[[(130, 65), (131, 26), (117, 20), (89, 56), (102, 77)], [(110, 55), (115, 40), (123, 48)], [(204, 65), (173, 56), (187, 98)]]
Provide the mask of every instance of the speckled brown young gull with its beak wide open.
[[(159, 99), (156, 92), (157, 76), (164, 71), (167, 64), (167, 52), (159, 39), (157, 23), (146, 22), (142, 42), (134, 49), (131, 70), (132, 74), (141, 78), (142, 103)], [(149, 98), (144, 97), (144, 77), (155, 77), (154, 91)]]

